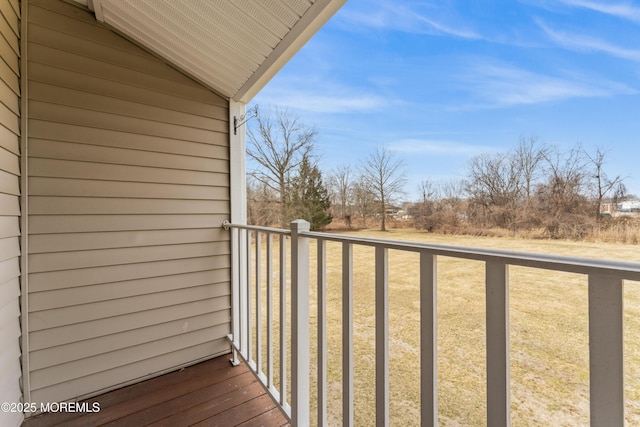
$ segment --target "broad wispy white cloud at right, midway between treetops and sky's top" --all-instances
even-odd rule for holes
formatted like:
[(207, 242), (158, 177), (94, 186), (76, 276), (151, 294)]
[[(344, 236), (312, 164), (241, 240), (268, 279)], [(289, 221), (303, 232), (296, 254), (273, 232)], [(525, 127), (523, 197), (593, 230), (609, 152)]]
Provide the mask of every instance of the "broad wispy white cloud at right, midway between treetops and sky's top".
[(475, 108), (539, 104), (571, 98), (604, 97), (636, 93), (619, 83), (589, 79), (575, 73), (549, 76), (502, 64), (479, 63), (462, 76), (466, 89), (480, 104)]

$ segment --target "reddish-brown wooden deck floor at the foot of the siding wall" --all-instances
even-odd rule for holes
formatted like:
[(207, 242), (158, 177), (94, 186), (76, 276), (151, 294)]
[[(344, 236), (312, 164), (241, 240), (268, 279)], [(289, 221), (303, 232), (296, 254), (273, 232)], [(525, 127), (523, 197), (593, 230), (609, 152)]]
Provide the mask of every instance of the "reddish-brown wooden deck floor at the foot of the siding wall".
[(229, 356), (88, 399), (94, 413), (48, 413), (22, 427), (284, 426), (287, 418), (245, 364)]

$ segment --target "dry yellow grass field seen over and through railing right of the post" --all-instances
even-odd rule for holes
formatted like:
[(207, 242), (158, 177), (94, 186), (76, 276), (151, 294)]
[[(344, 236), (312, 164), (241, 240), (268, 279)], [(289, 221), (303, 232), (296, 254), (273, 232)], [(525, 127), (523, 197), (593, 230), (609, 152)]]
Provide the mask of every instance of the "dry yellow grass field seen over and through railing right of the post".
[[(394, 230), (349, 235), (640, 262), (634, 245), (443, 236)], [(315, 245), (311, 257), (315, 259)], [(315, 263), (312, 262), (312, 266)], [(416, 254), (389, 253), (392, 425), (419, 425), (419, 288)], [(354, 248), (356, 425), (375, 423), (373, 249)], [(312, 268), (312, 346), (315, 270)], [(510, 268), (513, 425), (589, 424), (586, 276)], [(485, 425), (484, 264), (438, 258), (439, 418), (445, 426)], [(640, 283), (625, 283), (625, 415), (640, 425)], [(327, 243), (328, 412), (341, 425), (341, 249)], [(315, 348), (312, 349), (315, 352)], [(315, 356), (312, 355), (312, 360)], [(312, 370), (312, 372), (315, 372)], [(313, 385), (315, 387), (315, 385)], [(312, 389), (312, 393), (315, 389)], [(315, 410), (315, 409), (312, 409)]]

